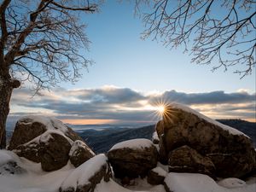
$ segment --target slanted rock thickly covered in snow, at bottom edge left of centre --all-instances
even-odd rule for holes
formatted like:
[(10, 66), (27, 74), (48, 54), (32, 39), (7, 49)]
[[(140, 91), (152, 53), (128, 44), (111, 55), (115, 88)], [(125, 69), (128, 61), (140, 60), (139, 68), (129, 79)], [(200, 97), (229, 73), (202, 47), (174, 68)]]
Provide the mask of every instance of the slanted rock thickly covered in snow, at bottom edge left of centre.
[(61, 183), (60, 192), (92, 192), (96, 184), (108, 182), (111, 177), (108, 159), (105, 154), (97, 154), (77, 167)]

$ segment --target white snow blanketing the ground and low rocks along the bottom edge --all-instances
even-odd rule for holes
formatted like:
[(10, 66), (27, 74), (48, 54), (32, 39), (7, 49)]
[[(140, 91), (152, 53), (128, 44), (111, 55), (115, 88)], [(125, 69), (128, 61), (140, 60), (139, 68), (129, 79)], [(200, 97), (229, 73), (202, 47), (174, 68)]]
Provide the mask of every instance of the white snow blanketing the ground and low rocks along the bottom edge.
[[(69, 186), (73, 186), (73, 189), (79, 189), (77, 183), (90, 182), (90, 177), (99, 171), (100, 166), (104, 166), (107, 158), (103, 154), (96, 155), (77, 168), (67, 163), (67, 166), (55, 172), (43, 172), (40, 164), (20, 158), (12, 151), (0, 150), (1, 163), (5, 164), (9, 160), (14, 160), (26, 172), (15, 175), (0, 174), (1, 192), (57, 192), (62, 186), (68, 188), (67, 183)], [(162, 166), (160, 163), (158, 166), (166, 170), (166, 166)], [(158, 167), (154, 168), (154, 172), (158, 172), (160, 175), (166, 173)], [(254, 192), (256, 189), (256, 177), (249, 178), (246, 183), (235, 178), (228, 178), (216, 183), (206, 175), (168, 173), (165, 179), (168, 190), (165, 190), (163, 185), (148, 184), (146, 178), (133, 179), (133, 185), (125, 187), (116, 183), (116, 179), (110, 178), (108, 181), (108, 174), (105, 178), (97, 183), (91, 192), (166, 192), (168, 190), (172, 190), (172, 192)], [(231, 186), (232, 188), (230, 188)]]

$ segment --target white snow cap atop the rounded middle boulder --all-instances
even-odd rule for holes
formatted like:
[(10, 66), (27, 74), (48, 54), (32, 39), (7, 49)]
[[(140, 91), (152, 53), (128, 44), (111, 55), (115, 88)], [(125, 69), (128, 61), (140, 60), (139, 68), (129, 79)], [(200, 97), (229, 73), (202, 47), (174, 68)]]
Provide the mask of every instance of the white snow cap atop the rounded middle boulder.
[(152, 146), (154, 146), (154, 144), (148, 139), (144, 139), (144, 138), (131, 139), (131, 140), (127, 140), (125, 142), (121, 142), (113, 145), (113, 147), (110, 148), (109, 151), (118, 149), (118, 148), (143, 149), (143, 148), (150, 148)]

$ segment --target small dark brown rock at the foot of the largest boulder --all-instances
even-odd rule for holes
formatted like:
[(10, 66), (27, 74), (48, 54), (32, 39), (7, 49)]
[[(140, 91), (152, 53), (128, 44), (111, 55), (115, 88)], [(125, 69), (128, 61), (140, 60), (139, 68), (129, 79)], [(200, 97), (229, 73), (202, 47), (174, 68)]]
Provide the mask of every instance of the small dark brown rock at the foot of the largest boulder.
[(198, 172), (213, 176), (215, 166), (212, 160), (184, 145), (172, 150), (168, 155), (169, 172)]

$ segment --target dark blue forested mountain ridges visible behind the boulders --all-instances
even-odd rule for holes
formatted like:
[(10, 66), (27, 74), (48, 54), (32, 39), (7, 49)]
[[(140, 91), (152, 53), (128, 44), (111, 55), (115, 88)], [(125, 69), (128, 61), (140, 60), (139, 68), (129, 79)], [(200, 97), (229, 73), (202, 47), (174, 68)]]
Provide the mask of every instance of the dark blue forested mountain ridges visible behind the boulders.
[[(256, 123), (248, 122), (241, 119), (218, 119), (224, 125), (229, 125), (237, 130), (244, 132), (253, 140), (256, 148)], [(70, 125), (73, 127), (73, 125)], [(105, 126), (106, 127), (106, 126)], [(134, 138), (151, 139), (154, 132), (154, 125), (143, 126), (139, 128), (103, 128), (79, 130), (78, 134), (97, 154), (107, 152), (115, 143)], [(76, 129), (74, 129), (76, 130)], [(10, 139), (12, 131), (7, 131), (7, 138)]]

